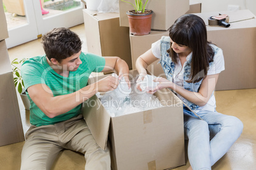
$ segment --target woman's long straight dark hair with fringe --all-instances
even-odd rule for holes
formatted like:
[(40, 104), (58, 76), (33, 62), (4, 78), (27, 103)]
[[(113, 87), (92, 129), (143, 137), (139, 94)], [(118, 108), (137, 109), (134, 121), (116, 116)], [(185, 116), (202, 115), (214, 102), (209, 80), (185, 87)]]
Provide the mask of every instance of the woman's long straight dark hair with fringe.
[[(206, 77), (209, 63), (213, 62), (214, 51), (207, 41), (203, 19), (192, 14), (182, 15), (169, 28), (169, 36), (173, 42), (192, 49), (191, 71), (187, 82), (199, 82)], [(177, 63), (177, 53), (172, 48), (167, 52), (173, 62)]]

